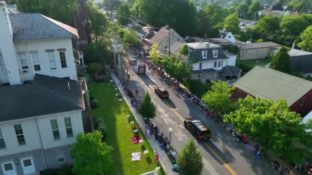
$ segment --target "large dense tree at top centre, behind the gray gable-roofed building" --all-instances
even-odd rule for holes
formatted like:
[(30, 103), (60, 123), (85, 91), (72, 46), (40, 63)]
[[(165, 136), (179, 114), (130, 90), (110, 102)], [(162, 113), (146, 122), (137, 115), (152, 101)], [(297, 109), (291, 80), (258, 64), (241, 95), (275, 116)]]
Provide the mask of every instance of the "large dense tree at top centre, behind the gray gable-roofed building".
[(135, 16), (147, 19), (155, 27), (170, 25), (182, 36), (196, 32), (196, 8), (185, 0), (136, 0), (131, 8)]

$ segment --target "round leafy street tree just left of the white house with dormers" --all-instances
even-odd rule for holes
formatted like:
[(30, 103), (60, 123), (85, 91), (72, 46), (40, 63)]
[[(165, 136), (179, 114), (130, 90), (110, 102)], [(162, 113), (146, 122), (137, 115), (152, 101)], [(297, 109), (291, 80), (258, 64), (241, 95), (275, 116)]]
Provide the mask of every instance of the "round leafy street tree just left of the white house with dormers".
[(180, 80), (182, 78), (188, 78), (193, 69), (190, 63), (175, 56), (166, 56), (161, 62), (165, 72), (172, 78), (177, 79), (178, 87)]

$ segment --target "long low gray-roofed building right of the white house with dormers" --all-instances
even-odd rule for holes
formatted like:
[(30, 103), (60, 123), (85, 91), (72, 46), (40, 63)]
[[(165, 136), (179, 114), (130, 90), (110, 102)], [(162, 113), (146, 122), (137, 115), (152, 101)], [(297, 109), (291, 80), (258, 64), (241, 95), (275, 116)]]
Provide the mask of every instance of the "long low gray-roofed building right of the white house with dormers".
[(237, 41), (236, 45), (240, 49), (240, 59), (242, 60), (265, 58), (270, 53), (276, 54), (282, 47), (278, 43), (271, 41), (255, 43)]

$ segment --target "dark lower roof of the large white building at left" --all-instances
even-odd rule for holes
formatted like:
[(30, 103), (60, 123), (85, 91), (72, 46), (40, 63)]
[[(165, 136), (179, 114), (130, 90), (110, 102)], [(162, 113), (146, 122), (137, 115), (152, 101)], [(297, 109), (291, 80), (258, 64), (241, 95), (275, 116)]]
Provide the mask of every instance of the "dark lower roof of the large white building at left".
[(36, 74), (29, 84), (2, 86), (0, 96), (0, 122), (84, 109), (80, 81), (45, 75)]

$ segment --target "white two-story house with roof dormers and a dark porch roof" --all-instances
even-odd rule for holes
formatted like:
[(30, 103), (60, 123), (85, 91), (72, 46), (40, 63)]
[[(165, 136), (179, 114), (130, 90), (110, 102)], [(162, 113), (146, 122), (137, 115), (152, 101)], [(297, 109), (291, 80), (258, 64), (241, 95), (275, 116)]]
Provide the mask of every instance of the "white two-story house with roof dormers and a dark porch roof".
[(191, 79), (229, 81), (230, 84), (240, 78), (241, 69), (235, 66), (236, 55), (221, 49), (221, 46), (209, 42), (186, 44), (189, 49), (188, 61), (192, 62)]

